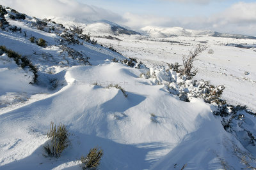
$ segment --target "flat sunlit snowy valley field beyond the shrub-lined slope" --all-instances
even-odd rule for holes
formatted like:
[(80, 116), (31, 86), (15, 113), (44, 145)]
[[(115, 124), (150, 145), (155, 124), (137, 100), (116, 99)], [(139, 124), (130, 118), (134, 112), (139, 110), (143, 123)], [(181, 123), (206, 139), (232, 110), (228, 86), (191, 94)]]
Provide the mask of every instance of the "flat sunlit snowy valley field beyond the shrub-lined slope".
[[(182, 55), (188, 55), (193, 46), (199, 43), (209, 46), (195, 61), (195, 67), (198, 69), (195, 79), (209, 80), (214, 85), (225, 85), (224, 99), (232, 104), (246, 105), (256, 111), (255, 49), (227, 46), (229, 43), (255, 45), (255, 39), (218, 38), (207, 35), (170, 38), (123, 35), (116, 38), (121, 41), (96, 39), (106, 46), (113, 46), (125, 57), (135, 57), (149, 66), (166, 66), (166, 63), (175, 62), (182, 64)], [(208, 53), (210, 49), (213, 53)]]

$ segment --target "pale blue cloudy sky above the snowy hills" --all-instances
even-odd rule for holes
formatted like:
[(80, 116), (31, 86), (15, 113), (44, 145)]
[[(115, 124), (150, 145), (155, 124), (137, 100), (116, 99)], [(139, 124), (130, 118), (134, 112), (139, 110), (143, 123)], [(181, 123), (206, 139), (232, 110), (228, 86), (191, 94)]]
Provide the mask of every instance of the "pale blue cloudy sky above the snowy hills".
[(0, 0), (35, 17), (109, 20), (135, 31), (148, 25), (256, 36), (256, 0)]

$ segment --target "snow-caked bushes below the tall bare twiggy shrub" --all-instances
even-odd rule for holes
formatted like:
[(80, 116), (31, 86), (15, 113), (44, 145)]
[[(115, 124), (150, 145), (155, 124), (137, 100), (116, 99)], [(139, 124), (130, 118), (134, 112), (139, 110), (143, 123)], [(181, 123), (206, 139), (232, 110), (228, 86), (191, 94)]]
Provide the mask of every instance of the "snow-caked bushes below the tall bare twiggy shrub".
[(189, 80), (187, 76), (180, 74), (179, 64), (168, 64), (168, 66), (168, 69), (162, 66), (152, 67), (147, 73), (141, 73), (141, 78), (152, 80), (156, 85), (165, 85), (170, 94), (179, 96), (181, 101), (189, 102), (190, 97), (196, 97), (204, 99), (206, 103), (225, 104), (225, 101), (220, 99), (225, 89), (223, 85), (215, 87), (209, 81)]

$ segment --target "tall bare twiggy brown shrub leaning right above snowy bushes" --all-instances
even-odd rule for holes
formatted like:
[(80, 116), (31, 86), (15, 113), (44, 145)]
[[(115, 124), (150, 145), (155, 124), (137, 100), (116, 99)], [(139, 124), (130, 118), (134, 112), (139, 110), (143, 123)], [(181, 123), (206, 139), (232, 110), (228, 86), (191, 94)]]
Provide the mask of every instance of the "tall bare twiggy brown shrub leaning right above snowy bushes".
[(188, 56), (183, 55), (182, 62), (183, 62), (184, 69), (182, 70), (182, 75), (187, 76), (188, 78), (192, 78), (193, 76), (196, 75), (197, 69), (193, 70), (194, 68), (193, 62), (196, 60), (196, 57), (201, 52), (203, 52), (206, 48), (207, 46), (197, 45), (196, 47), (192, 48), (189, 51)]

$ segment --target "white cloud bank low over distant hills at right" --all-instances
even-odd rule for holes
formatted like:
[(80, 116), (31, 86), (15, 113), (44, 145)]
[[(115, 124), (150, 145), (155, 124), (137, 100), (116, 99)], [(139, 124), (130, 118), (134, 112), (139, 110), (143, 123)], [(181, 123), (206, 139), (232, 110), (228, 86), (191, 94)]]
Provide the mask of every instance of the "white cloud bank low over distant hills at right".
[(256, 36), (256, 3), (236, 3), (225, 11), (209, 17), (156, 17), (148, 15), (124, 15), (124, 25), (133, 28), (146, 25), (179, 26), (186, 29), (205, 29), (211, 31), (247, 34)]

